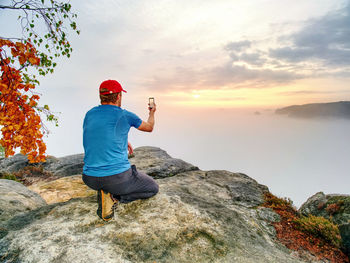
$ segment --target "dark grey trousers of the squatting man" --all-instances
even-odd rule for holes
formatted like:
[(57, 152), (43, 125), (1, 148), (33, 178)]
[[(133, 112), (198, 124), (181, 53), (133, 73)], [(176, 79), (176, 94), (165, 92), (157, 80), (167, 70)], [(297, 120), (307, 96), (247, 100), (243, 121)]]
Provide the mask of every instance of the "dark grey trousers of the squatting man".
[(121, 203), (147, 199), (159, 191), (157, 182), (149, 175), (139, 172), (135, 165), (120, 174), (96, 177), (83, 174), (84, 183), (94, 190), (113, 194)]

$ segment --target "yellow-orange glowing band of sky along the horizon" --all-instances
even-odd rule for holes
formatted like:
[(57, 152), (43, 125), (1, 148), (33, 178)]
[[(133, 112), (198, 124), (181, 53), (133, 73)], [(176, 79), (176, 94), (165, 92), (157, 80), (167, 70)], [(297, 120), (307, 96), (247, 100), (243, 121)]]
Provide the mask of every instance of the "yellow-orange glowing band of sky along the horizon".
[[(304, 80), (267, 88), (218, 88), (168, 91), (159, 94), (164, 102), (191, 108), (283, 107), (296, 104), (346, 100), (350, 90), (336, 90), (336, 81)], [(329, 90), (334, 87), (334, 92)], [(317, 89), (315, 89), (317, 87)], [(340, 92), (339, 92), (340, 91)]]

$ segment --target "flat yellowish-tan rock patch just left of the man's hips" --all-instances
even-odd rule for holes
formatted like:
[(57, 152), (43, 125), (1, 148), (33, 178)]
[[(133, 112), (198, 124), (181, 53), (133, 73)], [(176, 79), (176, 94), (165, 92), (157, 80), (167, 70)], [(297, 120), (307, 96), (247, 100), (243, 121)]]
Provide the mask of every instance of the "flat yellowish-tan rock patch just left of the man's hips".
[(62, 177), (50, 182), (40, 182), (28, 186), (28, 188), (40, 194), (48, 204), (65, 202), (72, 198), (91, 196), (96, 193), (84, 184), (81, 175)]

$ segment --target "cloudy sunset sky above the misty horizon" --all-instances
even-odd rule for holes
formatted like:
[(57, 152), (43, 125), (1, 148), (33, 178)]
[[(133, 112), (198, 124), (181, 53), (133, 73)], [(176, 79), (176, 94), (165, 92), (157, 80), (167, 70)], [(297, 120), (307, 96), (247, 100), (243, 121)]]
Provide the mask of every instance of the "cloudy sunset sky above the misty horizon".
[(119, 80), (133, 103), (151, 94), (186, 107), (280, 107), (350, 93), (349, 1), (71, 4), (81, 35), (71, 32), (72, 57), (42, 80), (42, 98), (52, 106), (56, 89), (96, 101), (108, 78)]

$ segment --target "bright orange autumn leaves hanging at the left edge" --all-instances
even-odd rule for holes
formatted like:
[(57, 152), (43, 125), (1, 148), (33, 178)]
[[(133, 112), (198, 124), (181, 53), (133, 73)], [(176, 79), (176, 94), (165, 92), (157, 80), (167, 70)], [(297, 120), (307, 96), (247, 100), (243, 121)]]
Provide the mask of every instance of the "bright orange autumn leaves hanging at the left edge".
[(27, 62), (32, 65), (40, 63), (40, 58), (30, 43), (25, 45), (0, 39), (0, 144), (5, 148), (5, 157), (14, 155), (15, 149), (20, 147), (20, 152), (27, 154), (30, 163), (43, 162), (46, 158), (46, 145), (43, 142), (41, 118), (36, 112), (40, 96), (34, 94), (29, 97), (24, 93), (34, 89), (35, 85), (24, 84), (25, 75), (10, 64), (4, 52), (6, 48), (11, 48), (13, 59), (16, 58), (20, 65)]

